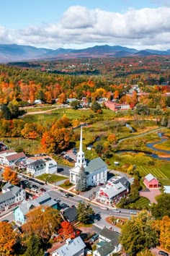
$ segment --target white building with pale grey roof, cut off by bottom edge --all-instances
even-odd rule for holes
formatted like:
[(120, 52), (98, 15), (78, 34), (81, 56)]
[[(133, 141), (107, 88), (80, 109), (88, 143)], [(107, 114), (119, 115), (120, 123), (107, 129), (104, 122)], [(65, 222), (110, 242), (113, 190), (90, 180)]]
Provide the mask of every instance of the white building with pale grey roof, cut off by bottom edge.
[(70, 238), (66, 240), (66, 244), (62, 247), (55, 249), (54, 252), (51, 252), (52, 256), (84, 256), (84, 244), (80, 236), (77, 236), (75, 239), (71, 240)]

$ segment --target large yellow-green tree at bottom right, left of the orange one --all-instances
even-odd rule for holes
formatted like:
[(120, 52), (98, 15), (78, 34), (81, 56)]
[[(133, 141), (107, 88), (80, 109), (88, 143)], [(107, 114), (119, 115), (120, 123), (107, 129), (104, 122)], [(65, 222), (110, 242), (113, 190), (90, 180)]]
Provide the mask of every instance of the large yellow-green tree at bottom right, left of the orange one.
[(143, 249), (156, 247), (158, 244), (158, 234), (153, 226), (153, 219), (147, 211), (138, 214), (127, 221), (122, 227), (120, 244), (128, 255), (136, 255)]

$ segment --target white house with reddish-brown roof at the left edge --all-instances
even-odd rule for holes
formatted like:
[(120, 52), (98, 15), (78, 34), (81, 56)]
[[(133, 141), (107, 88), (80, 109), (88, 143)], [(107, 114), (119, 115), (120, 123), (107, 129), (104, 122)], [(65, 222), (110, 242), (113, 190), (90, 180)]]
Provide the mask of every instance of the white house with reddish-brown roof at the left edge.
[(23, 152), (17, 153), (14, 150), (5, 150), (0, 153), (0, 164), (3, 166), (14, 166), (24, 158), (26, 158), (26, 155)]

